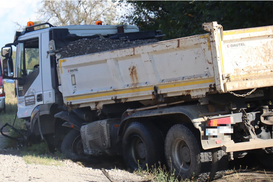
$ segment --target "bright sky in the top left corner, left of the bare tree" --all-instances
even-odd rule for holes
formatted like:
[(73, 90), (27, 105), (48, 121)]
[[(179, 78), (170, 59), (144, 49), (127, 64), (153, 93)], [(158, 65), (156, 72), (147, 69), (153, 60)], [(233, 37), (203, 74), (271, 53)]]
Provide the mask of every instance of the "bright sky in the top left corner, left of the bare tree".
[(16, 30), (26, 26), (28, 21), (37, 21), (37, 3), (30, 0), (9, 0), (0, 3), (0, 48), (12, 43)]

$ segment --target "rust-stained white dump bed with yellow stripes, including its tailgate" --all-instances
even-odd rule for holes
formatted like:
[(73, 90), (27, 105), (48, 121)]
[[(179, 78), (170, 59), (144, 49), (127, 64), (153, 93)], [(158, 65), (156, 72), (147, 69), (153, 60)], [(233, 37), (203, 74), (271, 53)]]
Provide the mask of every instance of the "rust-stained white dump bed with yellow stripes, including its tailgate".
[(103, 104), (273, 85), (273, 26), (223, 31), (58, 60), (65, 104)]

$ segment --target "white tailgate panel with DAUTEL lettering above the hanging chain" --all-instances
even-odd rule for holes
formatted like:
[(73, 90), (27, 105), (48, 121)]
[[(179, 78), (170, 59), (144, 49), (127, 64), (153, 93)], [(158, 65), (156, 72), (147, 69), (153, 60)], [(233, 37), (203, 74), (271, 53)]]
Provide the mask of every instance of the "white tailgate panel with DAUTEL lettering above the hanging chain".
[(273, 26), (223, 32), (224, 92), (273, 85)]

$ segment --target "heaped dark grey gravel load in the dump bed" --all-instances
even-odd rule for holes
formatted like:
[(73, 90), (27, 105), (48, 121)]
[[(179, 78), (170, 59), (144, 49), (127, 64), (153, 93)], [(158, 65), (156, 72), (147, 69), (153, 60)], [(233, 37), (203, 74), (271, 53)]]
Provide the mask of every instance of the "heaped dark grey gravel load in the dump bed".
[(103, 51), (111, 51), (115, 49), (123, 49), (128, 47), (135, 47), (144, 44), (150, 44), (158, 42), (156, 39), (146, 39), (146, 40), (127, 40), (119, 39), (112, 40), (110, 38), (95, 38), (95, 39), (80, 39), (71, 42), (66, 47), (59, 49), (57, 53), (58, 58), (73, 57), (79, 55), (86, 55), (92, 53), (99, 53)]

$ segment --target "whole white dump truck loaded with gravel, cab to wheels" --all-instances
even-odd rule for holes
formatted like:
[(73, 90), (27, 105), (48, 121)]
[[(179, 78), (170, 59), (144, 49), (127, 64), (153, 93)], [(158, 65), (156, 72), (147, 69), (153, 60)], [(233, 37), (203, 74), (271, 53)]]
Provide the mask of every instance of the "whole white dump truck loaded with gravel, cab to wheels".
[(199, 181), (249, 152), (272, 158), (273, 26), (202, 28), (166, 41), (135, 26), (16, 32), (2, 48), (3, 68), (16, 80), (25, 138), (75, 160), (123, 156), (129, 169), (160, 162)]

